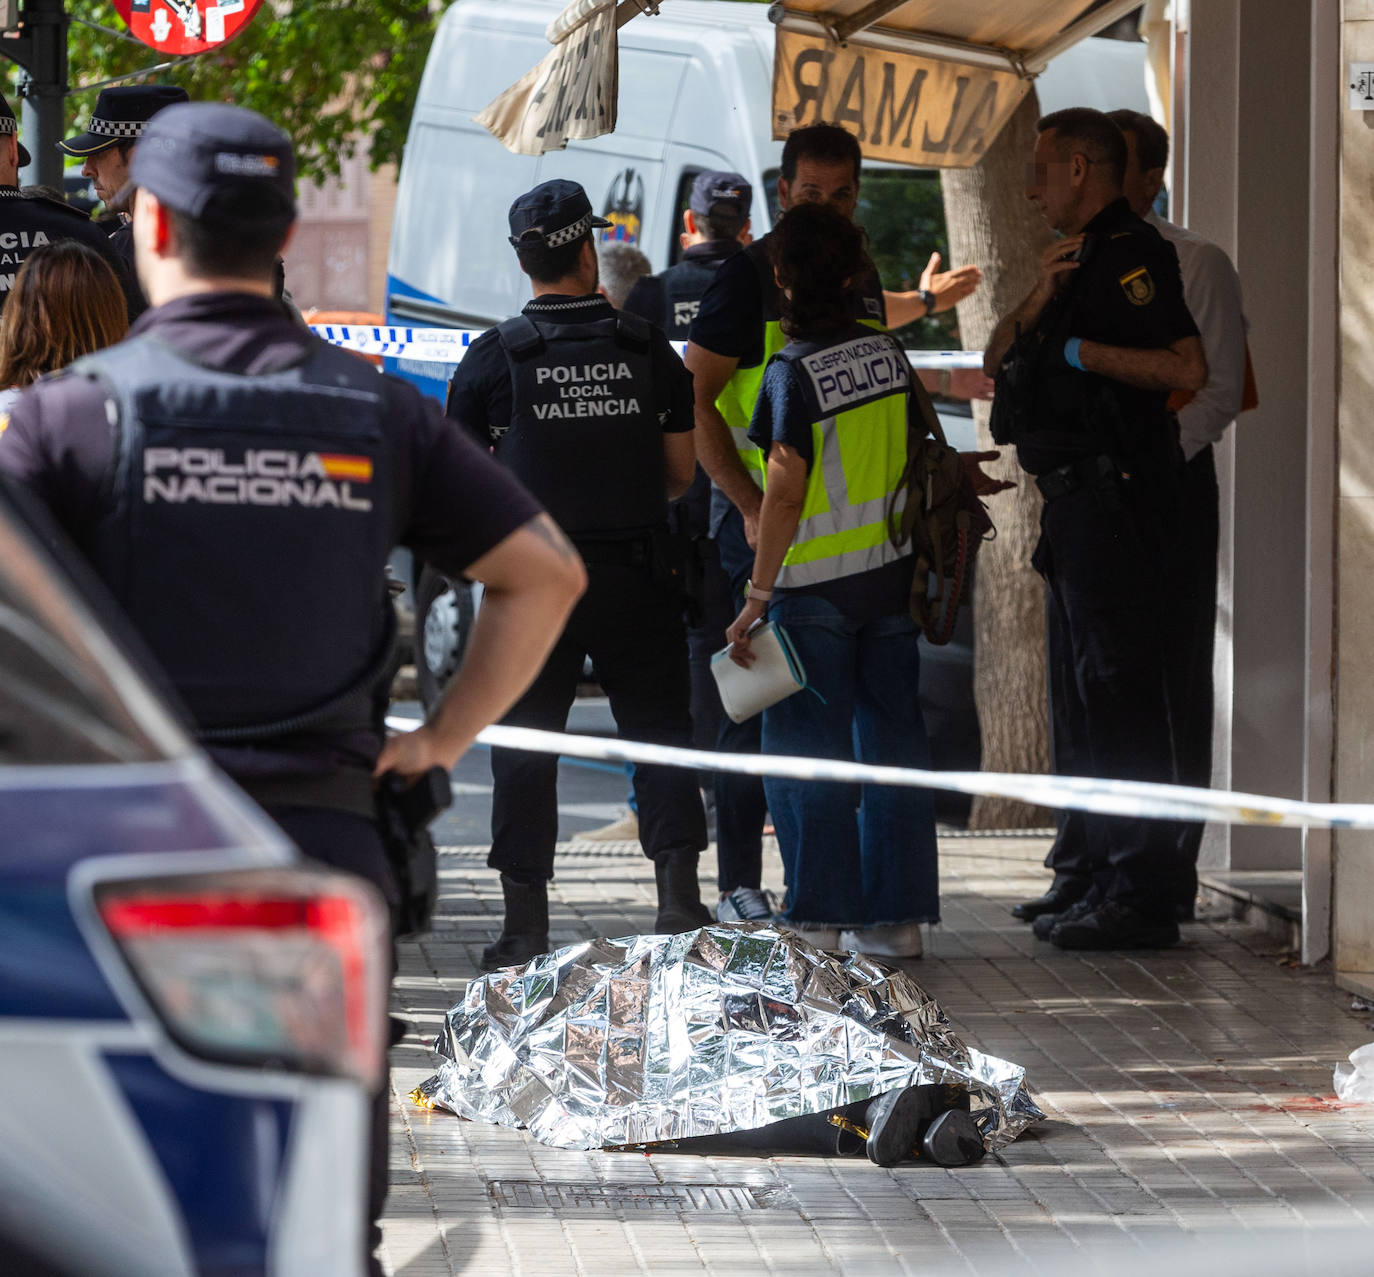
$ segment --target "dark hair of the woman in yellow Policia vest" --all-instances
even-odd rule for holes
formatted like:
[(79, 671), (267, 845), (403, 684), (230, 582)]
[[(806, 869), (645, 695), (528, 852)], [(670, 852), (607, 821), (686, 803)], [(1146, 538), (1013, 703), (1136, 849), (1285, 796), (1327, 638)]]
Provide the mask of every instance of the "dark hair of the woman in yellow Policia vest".
[(864, 232), (842, 213), (820, 203), (787, 209), (768, 235), (768, 260), (789, 337), (820, 337), (853, 322), (849, 289), (868, 254)]

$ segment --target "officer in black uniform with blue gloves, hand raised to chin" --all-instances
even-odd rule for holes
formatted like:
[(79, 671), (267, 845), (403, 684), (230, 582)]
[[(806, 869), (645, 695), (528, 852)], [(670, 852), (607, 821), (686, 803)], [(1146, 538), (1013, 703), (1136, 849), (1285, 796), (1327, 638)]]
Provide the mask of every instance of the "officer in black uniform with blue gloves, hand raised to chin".
[[(993, 437), (1044, 496), (1032, 562), (1047, 586), (1055, 771), (1175, 777), (1165, 679), (1168, 565), (1182, 454), (1171, 390), (1206, 382), (1178, 254), (1123, 198), (1121, 131), (1070, 109), (1039, 125), (1026, 195), (1065, 238), (987, 351)], [(1022, 334), (1020, 338), (1017, 334)], [(1061, 948), (1156, 948), (1179, 937), (1190, 866), (1168, 822), (1070, 814), (1021, 906)]]

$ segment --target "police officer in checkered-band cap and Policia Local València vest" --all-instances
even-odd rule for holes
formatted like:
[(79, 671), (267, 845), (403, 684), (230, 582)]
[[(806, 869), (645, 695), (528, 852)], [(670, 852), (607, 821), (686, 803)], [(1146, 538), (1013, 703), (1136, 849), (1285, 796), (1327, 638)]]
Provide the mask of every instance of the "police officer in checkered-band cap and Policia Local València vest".
[[(534, 298), (469, 348), (448, 414), (544, 502), (587, 564), (589, 587), (534, 685), (506, 716), (562, 730), (583, 661), (622, 735), (691, 738), (682, 601), (664, 559), (668, 500), (691, 482), (691, 378), (662, 333), (596, 296), (592, 214), (576, 181), (545, 181), (510, 210), (510, 242)], [(558, 762), (492, 751), (492, 851), (506, 924), (486, 968), (548, 947)], [(654, 862), (660, 931), (710, 921), (697, 860), (705, 814), (690, 773), (635, 766), (640, 843)]]

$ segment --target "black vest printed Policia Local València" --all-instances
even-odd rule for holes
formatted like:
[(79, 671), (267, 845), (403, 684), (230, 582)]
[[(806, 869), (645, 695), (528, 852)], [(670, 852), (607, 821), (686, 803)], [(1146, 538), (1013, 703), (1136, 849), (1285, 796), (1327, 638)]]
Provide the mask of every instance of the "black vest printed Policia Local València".
[(496, 456), (572, 536), (624, 536), (668, 520), (651, 327), (517, 315), (496, 330), (513, 407)]

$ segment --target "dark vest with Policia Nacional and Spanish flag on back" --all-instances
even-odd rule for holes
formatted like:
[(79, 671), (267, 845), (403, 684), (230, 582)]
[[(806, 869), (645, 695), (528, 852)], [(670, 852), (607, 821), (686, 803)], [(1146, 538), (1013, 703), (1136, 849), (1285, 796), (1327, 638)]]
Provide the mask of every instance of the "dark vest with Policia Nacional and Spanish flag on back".
[[(312, 341), (289, 367), (240, 375), (154, 337), (71, 371), (106, 390), (115, 434), (92, 559), (196, 726), (308, 719), (348, 698), (390, 642), (394, 460), (376, 373)], [(312, 726), (374, 726), (370, 700)]]

